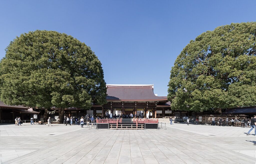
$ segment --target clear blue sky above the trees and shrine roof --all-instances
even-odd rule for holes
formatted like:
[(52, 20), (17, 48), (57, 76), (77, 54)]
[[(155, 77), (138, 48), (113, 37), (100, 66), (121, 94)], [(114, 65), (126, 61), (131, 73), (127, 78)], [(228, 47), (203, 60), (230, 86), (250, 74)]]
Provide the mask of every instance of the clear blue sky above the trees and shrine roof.
[(0, 1), (0, 58), (22, 33), (53, 30), (86, 43), (107, 84), (154, 84), (167, 95), (182, 49), (217, 26), (256, 21), (256, 1)]

